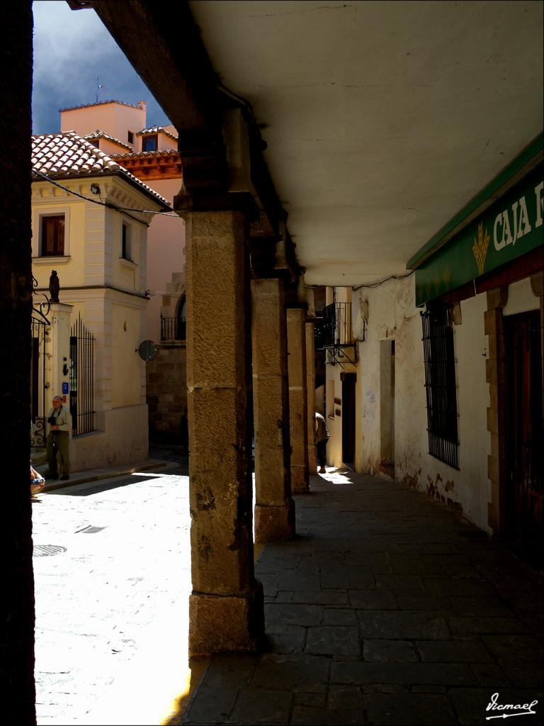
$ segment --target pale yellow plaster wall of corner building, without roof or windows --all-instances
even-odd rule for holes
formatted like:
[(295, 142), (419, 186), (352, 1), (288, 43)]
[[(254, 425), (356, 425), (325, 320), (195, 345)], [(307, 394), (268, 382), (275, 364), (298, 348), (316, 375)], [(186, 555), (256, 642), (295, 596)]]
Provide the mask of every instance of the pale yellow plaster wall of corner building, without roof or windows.
[[(90, 195), (92, 181), (62, 183)], [(108, 178), (98, 182), (103, 198), (120, 205), (147, 208), (154, 205), (121, 180)], [(120, 225), (124, 219), (121, 213), (68, 195), (57, 187), (55, 192), (50, 189), (51, 184), (33, 184), (33, 273), (38, 286), (47, 288), (51, 269), (57, 269), (59, 299), (62, 304), (73, 306), (70, 325), (81, 314), (95, 337), (96, 431), (73, 439), (72, 469), (144, 460), (148, 453), (145, 363), (139, 358), (137, 348), (144, 340), (147, 307), (145, 218), (128, 220), (135, 235), (132, 239), (135, 261), (128, 264), (119, 258)], [(65, 257), (38, 257), (39, 216), (43, 210), (66, 215)]]

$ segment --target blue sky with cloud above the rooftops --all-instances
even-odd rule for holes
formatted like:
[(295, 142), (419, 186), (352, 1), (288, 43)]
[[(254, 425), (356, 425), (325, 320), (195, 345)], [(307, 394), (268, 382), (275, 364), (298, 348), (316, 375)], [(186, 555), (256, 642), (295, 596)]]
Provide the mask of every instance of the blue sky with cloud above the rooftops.
[(33, 134), (59, 131), (59, 109), (94, 103), (97, 92), (99, 101), (147, 102), (147, 126), (169, 123), (94, 10), (34, 0), (33, 14)]

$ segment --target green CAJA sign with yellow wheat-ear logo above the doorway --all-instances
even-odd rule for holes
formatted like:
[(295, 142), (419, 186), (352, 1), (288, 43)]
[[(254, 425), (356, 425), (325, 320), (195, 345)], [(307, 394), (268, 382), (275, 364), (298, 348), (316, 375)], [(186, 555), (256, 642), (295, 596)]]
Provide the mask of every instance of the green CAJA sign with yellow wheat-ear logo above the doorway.
[(416, 305), (543, 244), (543, 172), (540, 163), (416, 269)]

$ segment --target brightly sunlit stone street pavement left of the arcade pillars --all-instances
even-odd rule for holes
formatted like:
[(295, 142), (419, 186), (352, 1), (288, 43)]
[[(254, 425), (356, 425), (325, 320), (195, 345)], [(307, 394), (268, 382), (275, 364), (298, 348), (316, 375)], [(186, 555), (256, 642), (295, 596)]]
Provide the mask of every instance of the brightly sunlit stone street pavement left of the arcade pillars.
[(39, 725), (152, 724), (184, 690), (185, 462), (33, 502)]

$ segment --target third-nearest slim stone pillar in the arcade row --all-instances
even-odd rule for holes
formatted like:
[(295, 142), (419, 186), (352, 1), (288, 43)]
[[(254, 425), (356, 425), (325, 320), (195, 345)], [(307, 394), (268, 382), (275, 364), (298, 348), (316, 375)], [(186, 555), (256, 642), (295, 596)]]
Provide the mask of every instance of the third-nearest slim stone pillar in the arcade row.
[(291, 430), (291, 491), (308, 494), (308, 396), (306, 388), (306, 313), (287, 310), (289, 423)]

